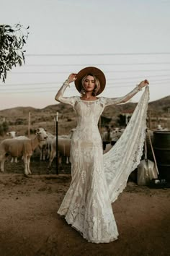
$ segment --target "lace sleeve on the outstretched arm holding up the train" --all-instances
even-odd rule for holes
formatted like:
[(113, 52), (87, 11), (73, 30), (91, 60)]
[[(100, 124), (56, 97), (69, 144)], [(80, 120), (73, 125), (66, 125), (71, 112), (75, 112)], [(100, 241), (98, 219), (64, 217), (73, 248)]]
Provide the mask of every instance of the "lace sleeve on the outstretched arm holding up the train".
[(133, 96), (138, 93), (138, 91), (141, 90), (139, 86), (137, 85), (130, 93), (123, 97), (119, 98), (105, 98), (104, 99), (104, 105), (109, 106), (109, 105), (114, 105), (114, 104), (120, 104), (120, 103), (125, 103), (130, 100), (130, 98), (133, 98)]

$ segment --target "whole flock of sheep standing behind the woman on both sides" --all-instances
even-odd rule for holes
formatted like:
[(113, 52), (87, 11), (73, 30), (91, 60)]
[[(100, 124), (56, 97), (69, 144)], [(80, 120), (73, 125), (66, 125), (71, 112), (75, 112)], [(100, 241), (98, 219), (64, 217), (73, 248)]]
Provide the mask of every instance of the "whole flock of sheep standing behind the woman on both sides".
[[(66, 163), (69, 163), (70, 148), (71, 148), (71, 137), (74, 129), (71, 130), (70, 135), (58, 136), (58, 157), (59, 163), (61, 163), (61, 156), (66, 157)], [(109, 134), (109, 140), (116, 141), (121, 136), (122, 130), (115, 129)], [(0, 143), (0, 171), (4, 172), (4, 163), (11, 157), (11, 162), (17, 163), (17, 158), (22, 157), (24, 161), (24, 174), (27, 176), (31, 174), (30, 170), (30, 158), (35, 152), (36, 148), (40, 151), (40, 160), (45, 161), (48, 159), (48, 168), (51, 168), (53, 159), (56, 156), (56, 136), (46, 132), (42, 127), (38, 128), (35, 137), (28, 138), (25, 136), (17, 136), (17, 132), (6, 133), (10, 138), (4, 139)], [(102, 132), (102, 140), (108, 140), (107, 132)], [(112, 144), (112, 143), (111, 143)], [(112, 145), (107, 145), (104, 148), (106, 153)]]

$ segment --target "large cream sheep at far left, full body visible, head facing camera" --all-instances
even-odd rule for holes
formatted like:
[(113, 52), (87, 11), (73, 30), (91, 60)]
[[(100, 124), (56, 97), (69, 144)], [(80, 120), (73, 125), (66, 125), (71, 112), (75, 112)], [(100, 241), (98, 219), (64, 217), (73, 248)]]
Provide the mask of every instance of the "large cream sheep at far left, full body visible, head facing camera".
[(23, 155), (24, 160), (24, 174), (32, 174), (30, 171), (30, 157), (37, 148), (38, 145), (41, 145), (47, 139), (48, 135), (45, 132), (45, 129), (38, 128), (36, 135), (32, 139), (5, 139), (1, 141), (0, 144), (0, 170), (4, 172), (4, 162), (6, 156), (11, 155), (12, 157), (18, 157)]

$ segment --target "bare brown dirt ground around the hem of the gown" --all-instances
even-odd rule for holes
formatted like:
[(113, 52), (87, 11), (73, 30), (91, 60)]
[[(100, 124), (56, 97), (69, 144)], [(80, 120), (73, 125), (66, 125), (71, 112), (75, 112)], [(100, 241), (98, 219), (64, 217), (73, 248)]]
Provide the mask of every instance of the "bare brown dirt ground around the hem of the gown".
[[(128, 186), (112, 205), (119, 239), (87, 242), (58, 216), (70, 174), (48, 172), (46, 163), (6, 163), (0, 173), (0, 256), (161, 256), (170, 255), (170, 189)], [(48, 174), (47, 174), (48, 173)]]

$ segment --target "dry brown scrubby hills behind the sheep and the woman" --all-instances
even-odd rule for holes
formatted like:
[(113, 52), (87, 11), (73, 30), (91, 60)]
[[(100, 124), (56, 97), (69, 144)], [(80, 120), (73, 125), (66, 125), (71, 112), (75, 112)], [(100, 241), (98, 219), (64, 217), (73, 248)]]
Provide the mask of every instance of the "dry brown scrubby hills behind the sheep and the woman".
[[(117, 106), (108, 106), (104, 109), (102, 116), (111, 119), (114, 123), (119, 114), (132, 114), (137, 103), (125, 103)], [(148, 110), (155, 118), (164, 118), (169, 115), (170, 95), (148, 104)], [(68, 134), (76, 127), (76, 114), (73, 108), (66, 104), (55, 104), (45, 108), (17, 107), (0, 111), (0, 121), (7, 121), (9, 129), (25, 133), (28, 124), (28, 114), (31, 114), (31, 128), (45, 127), (49, 132), (55, 132), (55, 116), (59, 113), (58, 125), (59, 134)]]

